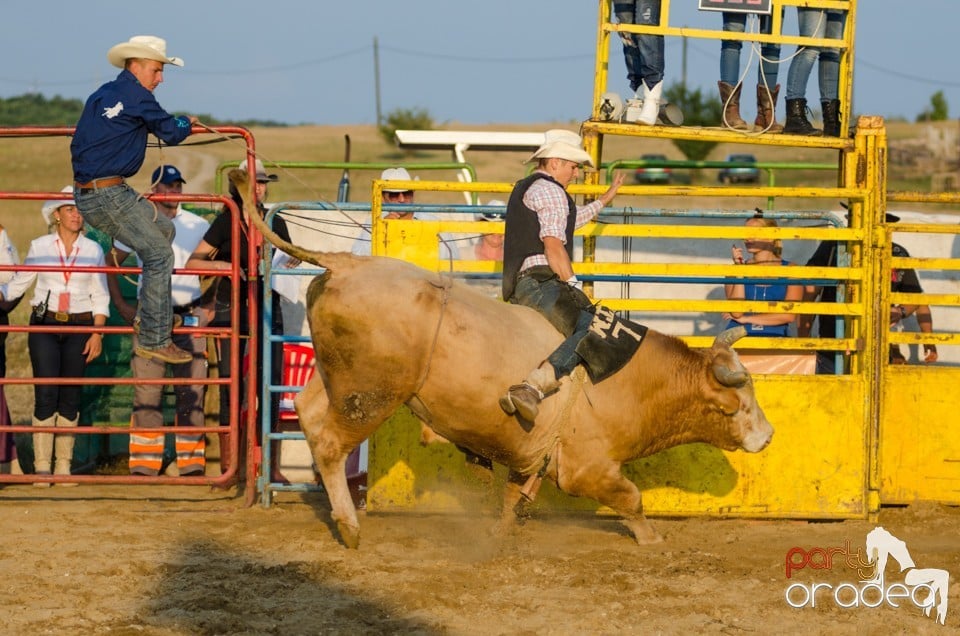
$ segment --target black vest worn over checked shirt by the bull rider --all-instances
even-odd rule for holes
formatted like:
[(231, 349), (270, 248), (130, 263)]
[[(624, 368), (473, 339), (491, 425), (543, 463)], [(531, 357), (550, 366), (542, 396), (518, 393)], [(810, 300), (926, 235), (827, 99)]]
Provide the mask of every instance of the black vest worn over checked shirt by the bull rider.
[[(542, 172), (534, 172), (517, 182), (507, 202), (506, 227), (503, 241), (503, 299), (510, 300), (517, 285), (520, 266), (528, 256), (543, 254), (543, 241), (540, 240), (540, 220), (537, 213), (523, 203), (523, 196), (537, 180), (546, 179), (563, 188), (553, 177)], [(564, 191), (566, 194), (566, 191)], [(573, 260), (573, 231), (576, 229), (577, 206), (567, 194), (566, 248), (567, 255)]]

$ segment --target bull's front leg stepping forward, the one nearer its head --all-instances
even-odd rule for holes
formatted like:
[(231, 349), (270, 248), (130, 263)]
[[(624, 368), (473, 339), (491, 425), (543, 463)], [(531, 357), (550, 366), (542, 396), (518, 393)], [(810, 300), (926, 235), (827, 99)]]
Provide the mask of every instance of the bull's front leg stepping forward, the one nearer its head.
[(576, 475), (561, 475), (558, 484), (565, 492), (596, 499), (620, 515), (620, 523), (640, 545), (660, 543), (663, 537), (643, 514), (643, 497), (636, 484), (623, 476), (619, 464), (580, 466)]

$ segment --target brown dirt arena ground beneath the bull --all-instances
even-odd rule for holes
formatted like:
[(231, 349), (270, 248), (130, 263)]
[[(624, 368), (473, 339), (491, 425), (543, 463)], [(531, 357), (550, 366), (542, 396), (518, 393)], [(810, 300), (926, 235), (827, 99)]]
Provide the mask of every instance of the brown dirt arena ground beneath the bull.
[[(862, 550), (877, 525), (866, 521), (656, 519), (665, 541), (638, 547), (591, 516), (537, 516), (495, 539), (492, 511), (367, 513), (350, 551), (317, 493), (280, 493), (264, 509), (205, 487), (7, 485), (0, 510), (9, 634), (960, 631), (960, 509), (935, 504), (884, 509), (880, 525), (918, 568), (950, 573), (945, 627), (909, 599), (844, 609), (821, 592), (815, 608), (787, 604), (793, 582), (858, 582), (839, 556), (788, 581), (785, 558)], [(891, 561), (888, 585), (897, 570)]]

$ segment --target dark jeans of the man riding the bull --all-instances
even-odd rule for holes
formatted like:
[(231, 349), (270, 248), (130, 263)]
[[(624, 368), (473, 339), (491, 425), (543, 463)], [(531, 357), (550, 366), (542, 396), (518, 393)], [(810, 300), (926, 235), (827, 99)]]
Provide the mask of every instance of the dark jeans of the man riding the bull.
[(557, 379), (570, 375), (581, 362), (577, 345), (590, 331), (592, 308), (587, 295), (554, 275), (547, 280), (521, 276), (510, 302), (536, 309), (550, 321), (566, 340), (547, 358), (553, 365)]

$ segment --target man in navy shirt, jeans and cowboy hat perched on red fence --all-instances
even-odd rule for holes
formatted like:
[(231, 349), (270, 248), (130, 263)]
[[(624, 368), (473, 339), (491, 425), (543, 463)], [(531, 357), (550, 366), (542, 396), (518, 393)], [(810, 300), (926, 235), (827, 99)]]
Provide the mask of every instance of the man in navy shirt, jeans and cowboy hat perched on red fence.
[(70, 143), (77, 208), (84, 221), (130, 246), (143, 262), (135, 353), (185, 364), (193, 354), (171, 339), (173, 224), (126, 182), (143, 165), (148, 134), (173, 146), (186, 139), (197, 122), (196, 117), (167, 113), (153, 96), (163, 81), (164, 65), (183, 66), (183, 60), (168, 56), (166, 41), (153, 35), (117, 44), (107, 59), (123, 70), (87, 99)]

